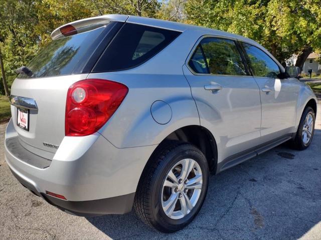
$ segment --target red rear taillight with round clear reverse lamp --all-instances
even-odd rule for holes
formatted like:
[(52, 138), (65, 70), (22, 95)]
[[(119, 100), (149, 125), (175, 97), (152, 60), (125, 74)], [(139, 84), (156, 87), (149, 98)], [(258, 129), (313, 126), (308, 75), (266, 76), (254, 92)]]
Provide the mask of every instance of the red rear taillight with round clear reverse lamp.
[(96, 132), (116, 111), (127, 92), (127, 86), (103, 79), (86, 79), (72, 84), (67, 93), (66, 136)]

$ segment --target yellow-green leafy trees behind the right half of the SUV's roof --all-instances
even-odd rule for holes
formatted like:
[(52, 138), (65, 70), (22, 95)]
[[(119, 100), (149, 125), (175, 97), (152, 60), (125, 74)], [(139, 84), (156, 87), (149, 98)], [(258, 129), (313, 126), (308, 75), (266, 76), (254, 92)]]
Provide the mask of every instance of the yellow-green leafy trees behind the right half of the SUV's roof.
[(187, 22), (252, 38), (283, 65), (321, 49), (321, 0), (188, 0)]

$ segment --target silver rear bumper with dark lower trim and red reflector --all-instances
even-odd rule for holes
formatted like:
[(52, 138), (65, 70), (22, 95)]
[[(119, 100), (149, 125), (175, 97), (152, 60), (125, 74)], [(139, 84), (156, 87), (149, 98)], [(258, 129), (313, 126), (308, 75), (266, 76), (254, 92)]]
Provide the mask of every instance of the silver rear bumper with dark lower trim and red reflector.
[(65, 137), (51, 164), (40, 168), (9, 150), (7, 141), (12, 137), (18, 136), (11, 120), (6, 130), (5, 157), (16, 178), (49, 203), (76, 215), (130, 211), (141, 172), (156, 147), (116, 148), (99, 133)]

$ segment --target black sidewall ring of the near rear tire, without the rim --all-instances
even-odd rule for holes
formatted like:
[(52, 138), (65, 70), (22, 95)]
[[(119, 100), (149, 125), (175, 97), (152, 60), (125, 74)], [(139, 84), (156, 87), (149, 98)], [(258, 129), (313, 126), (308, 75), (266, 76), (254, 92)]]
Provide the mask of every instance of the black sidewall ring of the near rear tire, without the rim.
[[(194, 208), (189, 214), (187, 214), (185, 217), (181, 219), (172, 219), (166, 215), (162, 207), (162, 188), (168, 172), (177, 162), (184, 158), (194, 159), (200, 165), (203, 175), (202, 191), (197, 204), (194, 206)], [(156, 181), (154, 182), (154, 186), (152, 187), (153, 191), (151, 197), (153, 218), (158, 224), (160, 224), (163, 227), (166, 227), (167, 230), (176, 231), (177, 229), (180, 229), (187, 225), (189, 222), (191, 222), (200, 210), (200, 208), (202, 207), (208, 188), (208, 163), (204, 154), (197, 147), (191, 144), (184, 144), (172, 150), (162, 160), (162, 163), (159, 164), (156, 171)]]

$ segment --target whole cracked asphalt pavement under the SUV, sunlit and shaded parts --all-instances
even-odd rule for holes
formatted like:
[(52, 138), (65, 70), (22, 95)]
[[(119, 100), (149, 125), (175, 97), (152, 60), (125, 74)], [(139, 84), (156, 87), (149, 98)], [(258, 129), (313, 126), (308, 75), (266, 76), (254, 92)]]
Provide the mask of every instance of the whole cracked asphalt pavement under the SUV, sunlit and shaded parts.
[(78, 217), (35, 196), (5, 162), (0, 124), (0, 239), (321, 239), (320, 113), (307, 150), (282, 144), (211, 176), (201, 211), (173, 234), (149, 228), (133, 212)]

